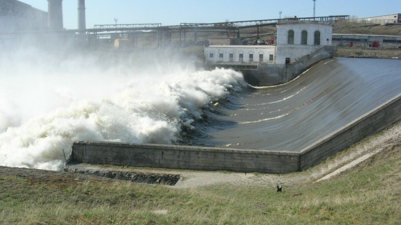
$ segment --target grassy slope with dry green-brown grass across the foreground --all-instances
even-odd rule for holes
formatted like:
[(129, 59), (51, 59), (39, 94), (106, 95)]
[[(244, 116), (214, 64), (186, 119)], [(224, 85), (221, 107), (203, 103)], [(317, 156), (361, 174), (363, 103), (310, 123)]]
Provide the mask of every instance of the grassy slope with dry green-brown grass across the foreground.
[(339, 176), (282, 192), (252, 184), (173, 188), (0, 167), (0, 224), (400, 224), (400, 140), (383, 146)]

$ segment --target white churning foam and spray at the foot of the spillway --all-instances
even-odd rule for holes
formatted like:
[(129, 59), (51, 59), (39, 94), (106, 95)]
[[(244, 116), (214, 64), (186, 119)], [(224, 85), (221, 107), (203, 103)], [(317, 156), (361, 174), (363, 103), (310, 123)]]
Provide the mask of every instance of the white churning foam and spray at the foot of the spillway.
[(0, 55), (0, 165), (60, 170), (75, 140), (171, 143), (245, 84), (233, 70), (87, 55)]

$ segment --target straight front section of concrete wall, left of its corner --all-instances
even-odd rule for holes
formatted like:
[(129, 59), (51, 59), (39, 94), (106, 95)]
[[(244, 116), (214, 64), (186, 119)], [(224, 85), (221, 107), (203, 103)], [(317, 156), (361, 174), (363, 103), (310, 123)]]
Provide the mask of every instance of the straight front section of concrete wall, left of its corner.
[(299, 166), (296, 152), (101, 141), (74, 142), (69, 160), (74, 163), (271, 173), (296, 171)]

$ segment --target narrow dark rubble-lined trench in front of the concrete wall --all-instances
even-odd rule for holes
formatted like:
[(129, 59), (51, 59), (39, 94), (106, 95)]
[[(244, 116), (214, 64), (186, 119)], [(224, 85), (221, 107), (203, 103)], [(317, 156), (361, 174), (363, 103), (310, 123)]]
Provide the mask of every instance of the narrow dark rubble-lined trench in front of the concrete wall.
[(151, 184), (163, 184), (163, 185), (175, 185), (178, 180), (181, 179), (180, 175), (177, 174), (165, 174), (165, 173), (144, 173), (144, 172), (131, 172), (131, 171), (111, 171), (102, 169), (88, 169), (88, 168), (74, 168), (65, 167), (65, 171), (84, 173), (89, 175), (101, 176), (112, 179), (128, 180), (137, 183), (151, 183)]

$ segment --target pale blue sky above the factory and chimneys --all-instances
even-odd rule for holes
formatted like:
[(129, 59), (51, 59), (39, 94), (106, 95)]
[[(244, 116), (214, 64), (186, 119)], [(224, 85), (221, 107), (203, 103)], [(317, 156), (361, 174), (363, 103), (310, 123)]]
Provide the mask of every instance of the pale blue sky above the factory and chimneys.
[[(20, 0), (47, 11), (47, 0)], [(222, 22), (313, 16), (313, 0), (86, 0), (86, 27), (95, 24)], [(64, 27), (78, 27), (78, 0), (63, 0)], [(401, 13), (401, 0), (316, 0), (316, 16), (358, 18)]]

